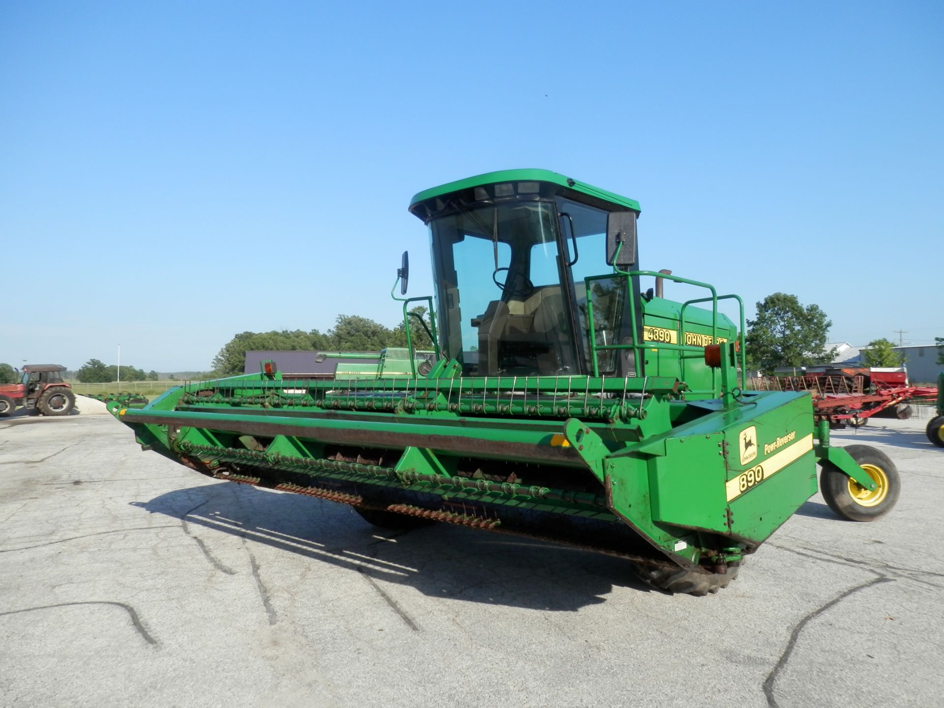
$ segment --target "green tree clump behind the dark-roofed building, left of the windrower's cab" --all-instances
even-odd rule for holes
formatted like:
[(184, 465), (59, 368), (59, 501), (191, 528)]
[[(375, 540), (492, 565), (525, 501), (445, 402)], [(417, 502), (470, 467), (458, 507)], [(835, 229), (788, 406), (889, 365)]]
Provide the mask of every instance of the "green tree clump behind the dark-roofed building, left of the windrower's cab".
[[(430, 337), (418, 320), (422, 318), (427, 327), (430, 326), (427, 309), (416, 307), (410, 312), (415, 315), (410, 318), (413, 346), (431, 349)], [(360, 315), (339, 314), (334, 327), (327, 332), (317, 329), (241, 332), (220, 349), (213, 358), (212, 366), (216, 375), (232, 376), (243, 373), (247, 351), (379, 351), (387, 346), (407, 346), (407, 332), (402, 322), (389, 328)]]

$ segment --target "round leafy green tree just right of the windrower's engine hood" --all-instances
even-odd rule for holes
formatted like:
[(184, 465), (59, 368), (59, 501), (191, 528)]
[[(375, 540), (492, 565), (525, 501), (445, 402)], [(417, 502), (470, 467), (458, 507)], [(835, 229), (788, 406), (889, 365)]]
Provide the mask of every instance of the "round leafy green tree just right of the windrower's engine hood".
[(832, 325), (818, 305), (804, 307), (786, 293), (767, 295), (757, 303), (757, 317), (748, 320), (749, 365), (769, 370), (830, 362), (835, 347), (826, 349), (826, 334)]

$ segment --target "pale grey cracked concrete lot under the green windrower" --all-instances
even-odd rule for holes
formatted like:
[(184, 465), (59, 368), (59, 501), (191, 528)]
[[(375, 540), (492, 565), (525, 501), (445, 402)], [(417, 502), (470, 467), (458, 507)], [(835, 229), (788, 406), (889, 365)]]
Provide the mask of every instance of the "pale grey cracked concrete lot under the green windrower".
[(892, 514), (813, 497), (692, 598), (615, 558), (209, 480), (108, 415), (0, 420), (0, 705), (942, 705), (923, 427), (834, 435), (898, 464)]

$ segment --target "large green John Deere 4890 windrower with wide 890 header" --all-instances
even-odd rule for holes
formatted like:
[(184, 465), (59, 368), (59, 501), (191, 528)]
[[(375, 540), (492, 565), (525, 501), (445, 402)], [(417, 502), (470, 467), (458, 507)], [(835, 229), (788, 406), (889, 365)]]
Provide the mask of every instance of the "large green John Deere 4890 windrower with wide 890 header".
[[(430, 229), (435, 293), (396, 298), (411, 351), (421, 329), (433, 343), (407, 352), (407, 375), (291, 380), (263, 364), (112, 413), (145, 449), (221, 480), (350, 504), (378, 525), (611, 553), (674, 592), (731, 582), (816, 493), (818, 464), (838, 514), (894, 504), (895, 465), (830, 447), (810, 396), (745, 390), (740, 298), (638, 270), (635, 201), (511, 170), (416, 194), (410, 211)], [(400, 295), (408, 273), (404, 257)], [(665, 299), (663, 279), (702, 294)]]

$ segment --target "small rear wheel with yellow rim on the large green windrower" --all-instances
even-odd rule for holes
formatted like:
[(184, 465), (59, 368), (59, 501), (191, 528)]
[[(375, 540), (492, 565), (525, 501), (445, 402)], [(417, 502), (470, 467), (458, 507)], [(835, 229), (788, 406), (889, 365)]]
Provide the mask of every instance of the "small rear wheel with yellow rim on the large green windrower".
[[(851, 487), (858, 486), (847, 477), (838, 467), (830, 462), (824, 462), (819, 472), (819, 491), (829, 508), (836, 514), (849, 521), (874, 521), (891, 511), (902, 492), (902, 478), (895, 466), (884, 452), (880, 452), (868, 445), (849, 445), (846, 451), (859, 466), (866, 469), (873, 479), (875, 474), (881, 474), (884, 479), (882, 487), (871, 494), (879, 494), (875, 498), (853, 497)], [(876, 471), (868, 470), (867, 466)], [(862, 487), (858, 487), (863, 490)], [(884, 489), (883, 489), (884, 488)], [(863, 494), (868, 494), (863, 490)]]

